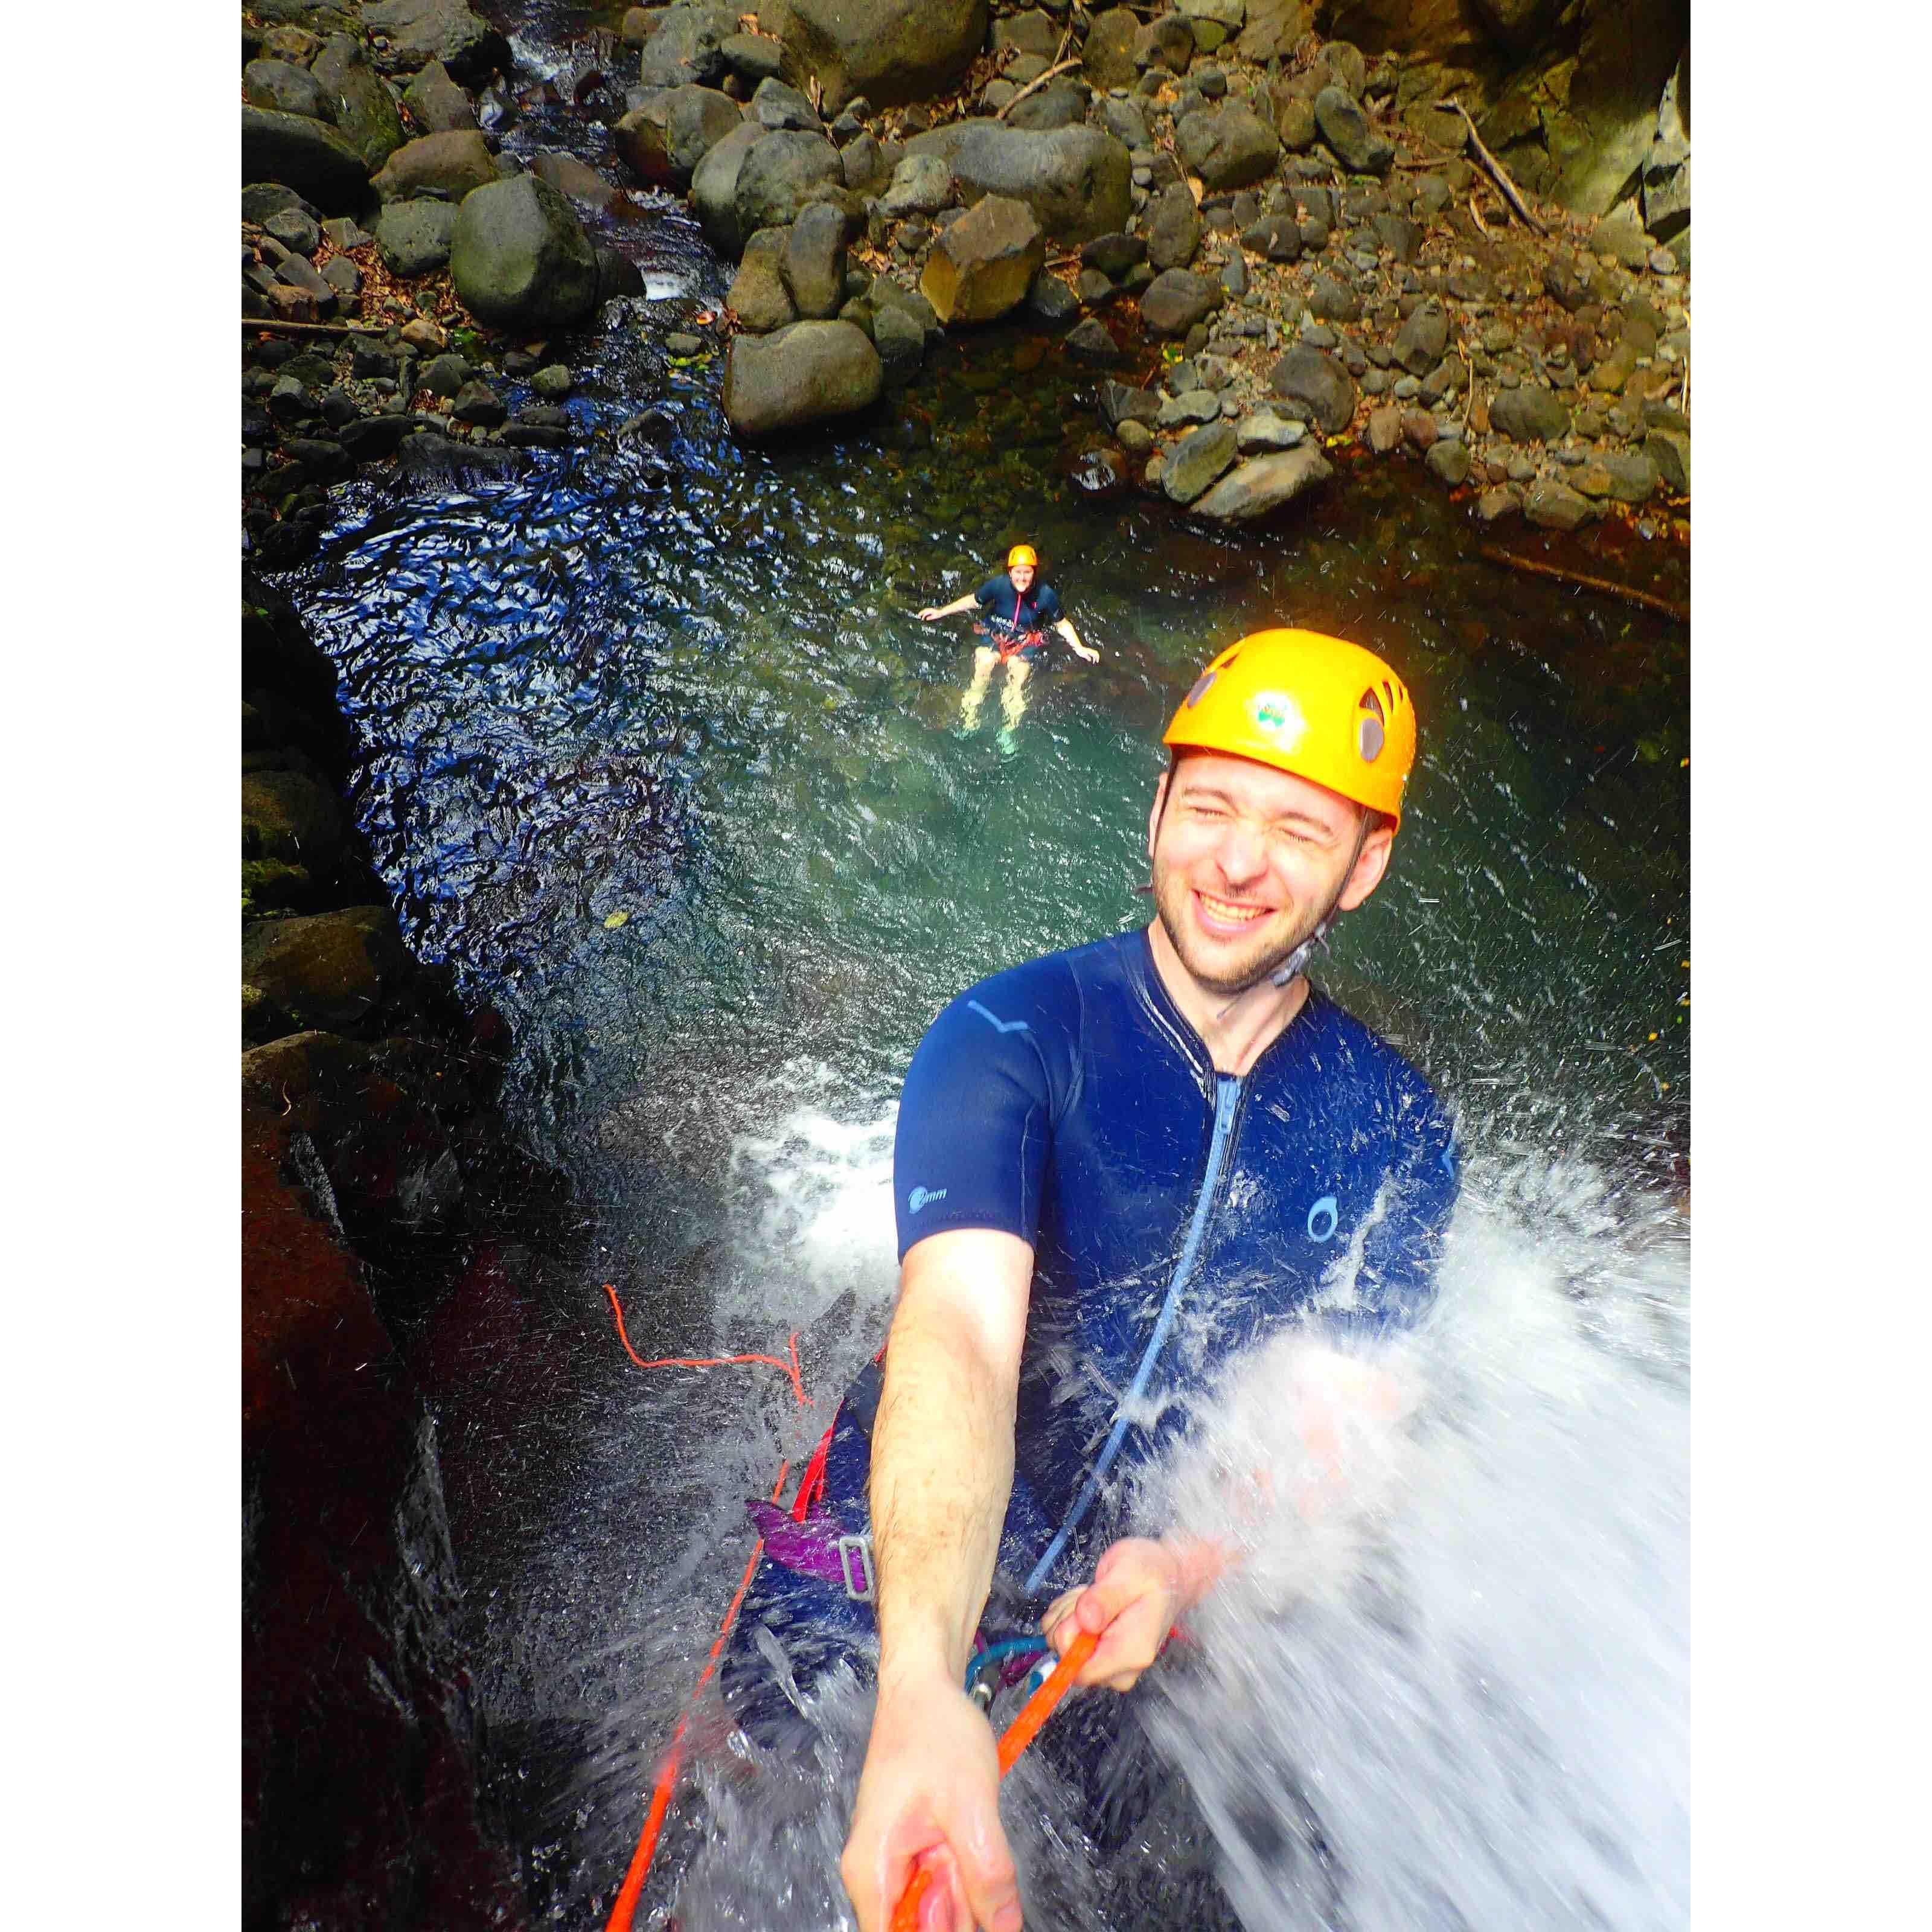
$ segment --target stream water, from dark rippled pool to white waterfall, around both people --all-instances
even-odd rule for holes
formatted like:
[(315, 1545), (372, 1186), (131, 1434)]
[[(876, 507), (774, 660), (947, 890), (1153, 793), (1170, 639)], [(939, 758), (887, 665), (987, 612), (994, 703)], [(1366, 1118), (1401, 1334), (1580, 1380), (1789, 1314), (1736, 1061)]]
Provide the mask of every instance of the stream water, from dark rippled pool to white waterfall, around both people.
[[(564, 102), (595, 58), (580, 27), (514, 43)], [(504, 131), (601, 158), (564, 106)], [(1294, 622), (1383, 649), (1420, 709), (1393, 873), (1316, 976), (1430, 1070), (1468, 1184), (1372, 1528), (1231, 1596), (1171, 1745), (1254, 1926), (1679, 1924), (1683, 630), (1484, 562), (1466, 510), (1391, 466), (1345, 464), (1267, 529), (1095, 500), (1092, 379), (1051, 346), (1018, 373), (1026, 332), (943, 344), (877, 423), (744, 448), (717, 363), (663, 346), (723, 298), (696, 226), (638, 195), (611, 230), (651, 299), (556, 346), (607, 435), (512, 477), (352, 485), (288, 580), (342, 674), (404, 931), (508, 1018), (514, 1130), (582, 1209), (554, 1252), (485, 1246), (400, 1337), (531, 1922), (601, 1922), (750, 1549), (740, 1499), (877, 1347), (922, 1030), (976, 976), (1146, 918), (1167, 715), (1211, 651)], [(912, 612), (1020, 537), (1103, 659), (1036, 676), (1005, 753), (997, 697), (956, 730), (964, 622)], [(1667, 537), (1573, 554), (1685, 595)], [(755, 1366), (639, 1372), (605, 1283), (645, 1356), (796, 1331), (819, 1406)], [(1236, 1391), (1217, 1426), (1265, 1447), (1279, 1410)], [(835, 1687), (823, 1719), (819, 1762), (753, 1768), (757, 1797), (699, 1721), (703, 1789), (639, 1922), (846, 1922), (864, 1704)], [(1252, 1766), (1281, 1748), (1341, 1905), (1244, 1864)], [(1016, 1781), (1022, 1872), (1055, 1901), (1032, 1922), (1109, 1922), (1051, 1810)]]

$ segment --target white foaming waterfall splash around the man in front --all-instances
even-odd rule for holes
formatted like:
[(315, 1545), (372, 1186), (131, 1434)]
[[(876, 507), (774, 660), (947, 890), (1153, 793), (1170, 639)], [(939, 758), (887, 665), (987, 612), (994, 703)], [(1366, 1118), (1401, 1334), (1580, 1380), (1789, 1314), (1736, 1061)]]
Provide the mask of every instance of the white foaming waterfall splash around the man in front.
[[(736, 1155), (767, 1291), (800, 1318), (840, 1304), (854, 1366), (893, 1291), (889, 1140), (800, 1113)], [(1238, 1551), (1148, 1702), (1250, 1932), (1687, 1922), (1675, 1204), (1478, 1155), (1424, 1327), (1374, 1376), (1293, 1337), (1250, 1358), (1142, 1509)], [(852, 1924), (837, 1861), (869, 1700), (835, 1677), (804, 1714), (782, 1758), (713, 1723), (657, 1922)], [(1068, 1797), (1037, 1752), (1007, 1783), (1028, 1922), (1159, 1922), (1119, 1917)]]

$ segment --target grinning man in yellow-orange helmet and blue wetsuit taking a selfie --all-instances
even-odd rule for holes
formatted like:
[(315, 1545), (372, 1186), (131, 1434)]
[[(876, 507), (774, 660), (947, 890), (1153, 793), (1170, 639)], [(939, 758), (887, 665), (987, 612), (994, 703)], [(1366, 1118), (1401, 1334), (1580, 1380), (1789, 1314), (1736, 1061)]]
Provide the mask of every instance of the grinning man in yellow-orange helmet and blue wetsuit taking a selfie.
[[(1434, 1294), (1449, 1122), (1306, 978), (1389, 866), (1408, 692), (1354, 643), (1258, 632), (1213, 659), (1165, 744), (1151, 923), (980, 981), (914, 1053), (885, 1349), (724, 1660), (738, 1721), (777, 1739), (786, 1702), (835, 1660), (864, 1669), (877, 1633), (840, 1861), (860, 1932), (883, 1932), (918, 1862), (954, 1926), (1020, 1924), (993, 1731), (964, 1689), (980, 1642), (1101, 1633), (1078, 1681), (1122, 1694), (1070, 1700), (1036, 1748), (1086, 1793), (1103, 1859), (1136, 1857), (1177, 1779), (1148, 1768), (1134, 1685), (1223, 1559), (1132, 1534), (1132, 1474), (1238, 1352), (1289, 1329), (1372, 1352)], [(1331, 1882), (1318, 1824), (1265, 1830), (1298, 1803), (1293, 1774), (1267, 1785), (1248, 1849), (1285, 1884), (1285, 1861)], [(1211, 1903), (1169, 1922), (1233, 1922), (1206, 1884)]]

